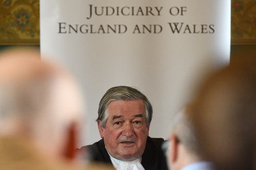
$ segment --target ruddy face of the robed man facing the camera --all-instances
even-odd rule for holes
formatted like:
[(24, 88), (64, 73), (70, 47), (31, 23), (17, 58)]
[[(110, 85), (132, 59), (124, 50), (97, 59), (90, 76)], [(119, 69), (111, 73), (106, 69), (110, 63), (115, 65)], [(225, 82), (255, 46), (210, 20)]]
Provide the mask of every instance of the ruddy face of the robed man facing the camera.
[(98, 127), (111, 156), (118, 160), (136, 160), (142, 156), (148, 136), (142, 99), (112, 101), (108, 105), (106, 127)]

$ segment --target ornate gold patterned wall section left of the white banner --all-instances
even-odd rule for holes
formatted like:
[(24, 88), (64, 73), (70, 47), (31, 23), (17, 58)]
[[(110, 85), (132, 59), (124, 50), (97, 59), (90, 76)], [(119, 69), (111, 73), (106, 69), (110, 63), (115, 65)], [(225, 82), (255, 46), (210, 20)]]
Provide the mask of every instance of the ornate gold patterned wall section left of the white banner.
[(0, 0), (0, 44), (39, 45), (39, 0)]

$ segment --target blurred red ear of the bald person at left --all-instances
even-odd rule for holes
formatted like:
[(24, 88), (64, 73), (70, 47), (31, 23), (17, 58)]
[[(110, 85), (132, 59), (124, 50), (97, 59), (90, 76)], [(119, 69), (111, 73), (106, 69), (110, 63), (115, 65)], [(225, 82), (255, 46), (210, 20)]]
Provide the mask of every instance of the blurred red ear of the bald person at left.
[(67, 129), (67, 142), (64, 146), (64, 157), (72, 160), (76, 157), (76, 147), (78, 144), (78, 123), (73, 122)]

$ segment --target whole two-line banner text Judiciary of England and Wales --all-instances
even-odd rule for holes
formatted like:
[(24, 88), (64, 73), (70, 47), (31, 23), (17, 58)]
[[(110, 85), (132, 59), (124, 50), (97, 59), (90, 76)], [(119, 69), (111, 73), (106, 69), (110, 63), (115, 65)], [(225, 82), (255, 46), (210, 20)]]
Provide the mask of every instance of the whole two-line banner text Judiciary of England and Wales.
[[(164, 11), (163, 6), (94, 6), (89, 4), (86, 24), (69, 24), (58, 22), (58, 34), (160, 34), (165, 24), (90, 24), (90, 20), (97, 17), (160, 17)], [(172, 6), (168, 8), (170, 16), (185, 16), (188, 9), (186, 6)], [(154, 18), (156, 21), (157, 18)], [(106, 18), (107, 20), (107, 18)], [(186, 24), (184, 22), (167, 22), (171, 34), (214, 34), (214, 24)], [(131, 27), (131, 28), (130, 28)]]

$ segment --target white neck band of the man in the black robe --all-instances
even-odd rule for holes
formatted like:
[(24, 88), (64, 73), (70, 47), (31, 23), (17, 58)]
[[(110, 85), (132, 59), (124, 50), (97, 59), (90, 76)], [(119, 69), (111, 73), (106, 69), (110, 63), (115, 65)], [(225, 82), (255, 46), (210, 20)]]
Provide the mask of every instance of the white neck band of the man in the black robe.
[(122, 160), (117, 160), (116, 158), (113, 158), (110, 154), (109, 156), (112, 164), (117, 170), (145, 170), (142, 164), (140, 163), (141, 157), (132, 161), (122, 161)]

